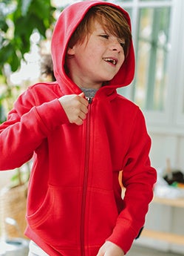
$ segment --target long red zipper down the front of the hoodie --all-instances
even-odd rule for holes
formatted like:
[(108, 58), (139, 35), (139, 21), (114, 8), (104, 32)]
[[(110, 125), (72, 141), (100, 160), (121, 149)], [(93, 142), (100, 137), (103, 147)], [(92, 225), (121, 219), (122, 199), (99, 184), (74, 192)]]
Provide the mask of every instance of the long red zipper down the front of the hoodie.
[(89, 102), (88, 114), (86, 116), (86, 153), (84, 162), (84, 183), (81, 204), (81, 256), (85, 256), (84, 246), (84, 226), (85, 226), (85, 211), (86, 211), (86, 191), (89, 174), (89, 145), (90, 145), (90, 117), (92, 108), (92, 98), (86, 97)]

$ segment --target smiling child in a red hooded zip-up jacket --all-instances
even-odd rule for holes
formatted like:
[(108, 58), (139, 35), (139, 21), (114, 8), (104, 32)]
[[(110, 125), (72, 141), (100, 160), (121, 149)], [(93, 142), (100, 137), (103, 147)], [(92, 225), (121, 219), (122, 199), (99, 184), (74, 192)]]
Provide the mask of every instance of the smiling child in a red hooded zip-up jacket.
[(56, 82), (28, 88), (1, 125), (1, 170), (33, 157), (30, 255), (125, 255), (156, 181), (143, 114), (116, 91), (134, 77), (128, 13), (103, 1), (67, 7), (52, 60)]

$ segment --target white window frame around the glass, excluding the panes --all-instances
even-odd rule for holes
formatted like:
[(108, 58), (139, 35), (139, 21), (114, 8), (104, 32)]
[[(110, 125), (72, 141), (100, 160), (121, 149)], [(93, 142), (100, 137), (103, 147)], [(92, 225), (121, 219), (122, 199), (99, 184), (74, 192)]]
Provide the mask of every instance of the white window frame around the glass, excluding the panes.
[[(170, 42), (168, 53), (168, 80), (166, 87), (166, 105), (163, 111), (142, 110), (151, 132), (184, 134), (184, 1), (114, 1), (115, 4), (131, 10), (132, 36), (134, 49), (137, 49), (138, 17), (143, 7), (171, 7)], [(178, 50), (180, 49), (180, 50)], [(136, 85), (134, 85), (136, 86)], [(133, 84), (120, 89), (120, 93), (129, 99), (134, 99)]]

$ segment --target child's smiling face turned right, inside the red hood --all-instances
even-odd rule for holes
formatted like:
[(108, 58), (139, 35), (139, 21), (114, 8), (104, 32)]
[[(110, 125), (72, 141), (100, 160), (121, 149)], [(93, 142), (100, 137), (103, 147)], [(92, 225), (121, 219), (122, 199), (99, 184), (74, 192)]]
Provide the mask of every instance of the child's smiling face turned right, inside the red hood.
[(70, 78), (81, 88), (100, 88), (123, 64), (123, 44), (122, 39), (107, 33), (100, 23), (95, 22), (89, 38), (68, 49)]

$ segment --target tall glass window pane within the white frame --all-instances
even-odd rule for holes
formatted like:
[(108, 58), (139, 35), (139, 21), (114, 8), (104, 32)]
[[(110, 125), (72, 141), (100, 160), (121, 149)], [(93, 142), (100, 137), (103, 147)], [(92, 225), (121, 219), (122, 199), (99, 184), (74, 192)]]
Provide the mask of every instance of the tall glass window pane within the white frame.
[(139, 11), (134, 101), (146, 110), (163, 111), (166, 105), (170, 10), (143, 7)]

